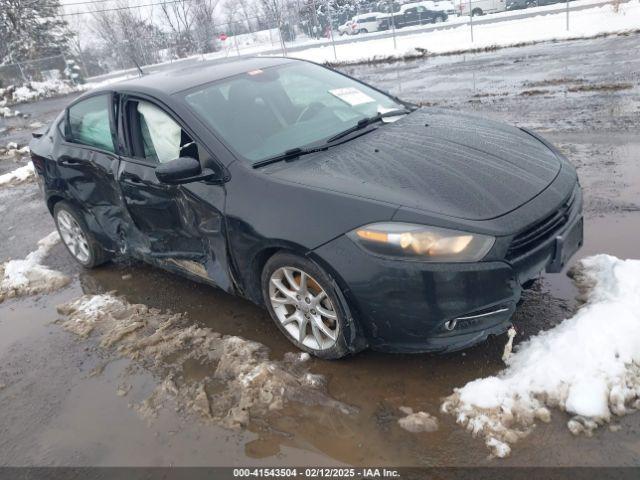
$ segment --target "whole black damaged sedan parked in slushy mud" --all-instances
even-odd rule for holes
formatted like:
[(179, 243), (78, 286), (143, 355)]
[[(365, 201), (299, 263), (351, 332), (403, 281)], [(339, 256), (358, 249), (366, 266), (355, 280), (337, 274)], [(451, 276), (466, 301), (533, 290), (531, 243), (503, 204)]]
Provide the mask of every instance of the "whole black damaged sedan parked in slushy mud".
[(535, 133), (299, 60), (93, 90), (31, 152), (80, 264), (128, 255), (241, 295), (322, 358), (501, 334), (582, 245), (576, 172)]

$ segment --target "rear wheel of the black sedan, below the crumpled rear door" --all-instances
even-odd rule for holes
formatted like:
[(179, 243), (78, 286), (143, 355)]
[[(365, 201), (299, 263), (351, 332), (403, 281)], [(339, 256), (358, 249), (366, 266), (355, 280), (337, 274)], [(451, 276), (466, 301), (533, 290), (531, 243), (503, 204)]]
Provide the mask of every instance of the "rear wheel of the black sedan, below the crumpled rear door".
[(98, 243), (82, 215), (70, 203), (56, 203), (53, 219), (65, 248), (84, 268), (95, 268), (109, 261), (109, 253)]

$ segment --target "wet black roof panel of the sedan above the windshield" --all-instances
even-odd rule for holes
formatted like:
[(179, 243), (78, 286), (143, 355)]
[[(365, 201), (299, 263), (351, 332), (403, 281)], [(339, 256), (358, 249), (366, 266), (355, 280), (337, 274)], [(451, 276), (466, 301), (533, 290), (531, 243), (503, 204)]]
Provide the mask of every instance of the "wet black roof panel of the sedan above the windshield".
[(223, 78), (232, 77), (240, 73), (250, 72), (260, 68), (273, 67), (293, 62), (295, 60), (284, 57), (250, 57), (229, 62), (202, 62), (183, 68), (174, 68), (162, 72), (143, 75), (137, 78), (123, 80), (99, 87), (96, 91), (136, 91), (149, 94), (172, 95), (182, 90), (188, 90), (198, 85), (215, 82)]

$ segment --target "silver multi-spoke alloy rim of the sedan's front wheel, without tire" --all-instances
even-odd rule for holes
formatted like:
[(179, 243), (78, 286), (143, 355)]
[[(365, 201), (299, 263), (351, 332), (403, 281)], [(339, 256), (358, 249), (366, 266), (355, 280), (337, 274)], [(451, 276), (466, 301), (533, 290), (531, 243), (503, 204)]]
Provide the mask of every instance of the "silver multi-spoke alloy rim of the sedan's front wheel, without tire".
[(284, 329), (313, 350), (327, 350), (338, 340), (338, 314), (331, 299), (308, 273), (281, 267), (269, 279), (269, 299)]

